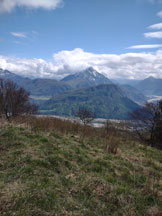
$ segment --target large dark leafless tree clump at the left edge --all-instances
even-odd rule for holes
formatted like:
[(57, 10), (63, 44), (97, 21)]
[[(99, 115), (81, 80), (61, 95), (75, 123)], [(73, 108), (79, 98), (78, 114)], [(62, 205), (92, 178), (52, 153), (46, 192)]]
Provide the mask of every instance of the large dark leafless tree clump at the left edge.
[(7, 119), (10, 116), (36, 113), (38, 106), (29, 102), (29, 95), (11, 80), (0, 79), (0, 113)]

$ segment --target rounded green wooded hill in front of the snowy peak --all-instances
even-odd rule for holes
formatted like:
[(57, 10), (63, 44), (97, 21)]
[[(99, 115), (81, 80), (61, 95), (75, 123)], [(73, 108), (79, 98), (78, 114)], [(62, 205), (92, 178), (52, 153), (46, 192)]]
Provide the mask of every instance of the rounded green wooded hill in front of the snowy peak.
[(53, 97), (40, 106), (44, 114), (75, 116), (79, 106), (91, 109), (98, 118), (127, 119), (139, 106), (116, 85), (80, 89)]

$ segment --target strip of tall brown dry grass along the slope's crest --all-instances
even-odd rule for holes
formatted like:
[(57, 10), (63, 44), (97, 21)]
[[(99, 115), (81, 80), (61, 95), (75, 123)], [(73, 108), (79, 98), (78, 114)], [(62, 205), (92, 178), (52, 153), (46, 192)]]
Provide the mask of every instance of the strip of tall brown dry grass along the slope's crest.
[(55, 117), (19, 117), (14, 119), (13, 123), (20, 127), (31, 128), (32, 131), (53, 131), (79, 135), (80, 142), (83, 142), (86, 138), (100, 139), (105, 151), (112, 154), (117, 154), (118, 147), (122, 142), (125, 142), (120, 138), (119, 131), (110, 123), (100, 129), (82, 125), (77, 121), (72, 122)]

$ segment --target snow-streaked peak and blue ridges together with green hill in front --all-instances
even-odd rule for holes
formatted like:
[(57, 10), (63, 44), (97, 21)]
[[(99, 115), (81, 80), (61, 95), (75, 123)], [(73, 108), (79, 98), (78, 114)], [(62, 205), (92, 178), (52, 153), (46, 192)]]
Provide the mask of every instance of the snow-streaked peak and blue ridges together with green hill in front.
[[(74, 115), (81, 105), (93, 110), (97, 117), (127, 119), (128, 112), (143, 104), (146, 97), (130, 85), (113, 84), (107, 77), (92, 67), (69, 75), (60, 81), (52, 79), (29, 79), (7, 70), (0, 69), (0, 77), (11, 79), (25, 88), (42, 113), (55, 115)], [(39, 101), (38, 96), (51, 97)]]

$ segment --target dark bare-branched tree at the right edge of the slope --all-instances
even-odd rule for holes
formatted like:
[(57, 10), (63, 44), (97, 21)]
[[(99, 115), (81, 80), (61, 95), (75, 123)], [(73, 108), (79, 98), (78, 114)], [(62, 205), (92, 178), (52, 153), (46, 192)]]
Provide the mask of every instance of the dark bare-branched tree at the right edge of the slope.
[(162, 148), (162, 101), (147, 103), (131, 116), (140, 139), (152, 147)]

